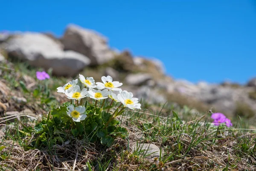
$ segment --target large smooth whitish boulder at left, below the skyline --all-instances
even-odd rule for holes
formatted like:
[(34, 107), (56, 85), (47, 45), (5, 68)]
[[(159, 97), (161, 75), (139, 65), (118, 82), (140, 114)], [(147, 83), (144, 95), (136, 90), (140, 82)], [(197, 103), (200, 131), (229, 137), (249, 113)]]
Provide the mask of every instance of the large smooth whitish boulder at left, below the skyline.
[(26, 60), (35, 67), (52, 68), (58, 76), (74, 76), (90, 64), (86, 56), (74, 52), (63, 51), (62, 45), (50, 37), (26, 32), (14, 36), (6, 43), (6, 51), (10, 56)]

